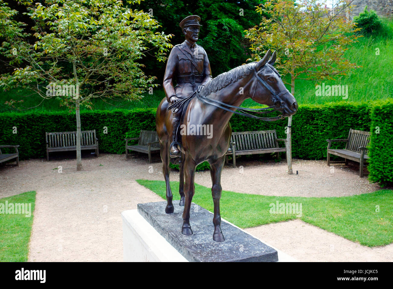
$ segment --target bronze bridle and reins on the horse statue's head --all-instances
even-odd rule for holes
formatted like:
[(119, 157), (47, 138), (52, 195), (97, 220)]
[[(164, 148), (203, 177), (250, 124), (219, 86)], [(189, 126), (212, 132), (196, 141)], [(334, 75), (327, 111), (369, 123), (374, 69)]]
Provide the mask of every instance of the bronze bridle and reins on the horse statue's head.
[[(283, 119), (283, 116), (282, 116), (281, 114), (280, 114), (279, 116), (275, 116), (275, 117), (273, 117), (273, 118), (263, 118), (263, 117), (255, 116), (255, 115), (252, 115), (252, 114), (249, 113), (249, 112), (253, 112), (253, 113), (256, 113), (256, 114), (265, 114), (265, 113), (274, 112), (275, 110), (279, 110), (279, 109), (281, 109), (281, 112), (284, 111), (285, 102), (284, 102), (280, 97), (283, 96), (283, 95), (285, 95), (285, 94), (287, 94), (287, 93), (289, 92), (289, 90), (288, 90), (288, 89), (285, 89), (284, 91), (280, 92), (279, 94), (276, 94), (276, 93), (274, 92), (273, 88), (272, 88), (268, 83), (266, 83), (266, 81), (264, 81), (261, 77), (259, 77), (258, 74), (261, 73), (261, 72), (263, 72), (263, 70), (264, 70), (267, 66), (270, 67), (270, 68), (272, 68), (272, 70), (281, 78), (281, 75), (277, 72), (277, 70), (276, 70), (272, 65), (270, 65), (270, 64), (268, 64), (268, 63), (266, 63), (266, 64), (264, 65), (263, 69), (262, 69), (260, 72), (257, 73), (257, 72), (254, 70), (254, 74), (255, 74), (255, 76), (257, 77), (257, 81), (259, 81), (265, 88), (267, 88), (267, 89), (269, 90), (270, 94), (272, 94), (272, 96), (273, 96), (273, 105), (270, 106), (270, 107), (264, 107), (264, 108), (262, 108), (262, 109), (248, 109), (248, 108), (246, 109), (246, 108), (244, 108), (244, 107), (237, 107), (237, 106), (234, 106), (234, 105), (229, 105), (229, 104), (223, 103), (223, 102), (221, 102), (221, 101), (218, 101), (218, 100), (216, 100), (216, 99), (207, 98), (206, 96), (201, 96), (201, 95), (200, 95), (198, 92), (196, 92), (196, 91), (193, 92), (193, 94), (191, 94), (191, 96), (193, 97), (194, 94), (196, 94), (196, 97), (197, 97), (198, 99), (204, 101), (205, 103), (208, 103), (208, 104), (210, 104), (210, 105), (214, 105), (215, 107), (219, 107), (220, 109), (223, 109), (223, 110), (226, 110), (226, 111), (235, 113), (235, 114), (239, 114), (239, 115), (241, 115), (241, 116), (247, 116), (247, 117), (249, 117), (249, 118), (256, 118), (256, 119), (258, 119), (258, 120), (264, 120), (264, 121), (281, 120), (281, 119)], [(250, 90), (251, 90), (255, 85), (256, 85), (256, 81), (253, 82), (253, 84), (251, 85)], [(253, 99), (254, 95), (255, 95), (255, 90), (254, 90), (254, 93), (253, 93), (253, 95), (252, 95), (252, 97), (251, 97), (252, 100), (254, 100), (254, 99)], [(191, 96), (190, 96), (190, 97), (191, 97)], [(184, 99), (184, 100), (185, 100), (185, 99)], [(254, 100), (254, 101), (255, 101), (255, 100)], [(178, 101), (178, 102), (179, 102), (179, 101)], [(275, 106), (275, 103), (277, 103), (277, 102), (278, 102), (279, 105), (280, 105), (279, 108), (277, 108), (277, 107)], [(177, 103), (177, 102), (176, 102), (176, 103)], [(176, 103), (174, 103), (174, 104), (176, 104)], [(171, 105), (170, 107), (168, 107), (168, 109), (171, 109), (171, 108), (173, 108), (173, 107), (174, 107), (174, 105)], [(177, 107), (177, 105), (176, 105), (176, 107)], [(229, 109), (229, 108), (234, 108), (234, 109), (237, 109), (237, 110), (239, 110), (239, 111), (241, 111), (241, 112), (233, 111), (233, 110), (231, 110), (231, 109)], [(273, 109), (273, 110), (261, 111), (261, 110), (268, 110), (268, 109)]]

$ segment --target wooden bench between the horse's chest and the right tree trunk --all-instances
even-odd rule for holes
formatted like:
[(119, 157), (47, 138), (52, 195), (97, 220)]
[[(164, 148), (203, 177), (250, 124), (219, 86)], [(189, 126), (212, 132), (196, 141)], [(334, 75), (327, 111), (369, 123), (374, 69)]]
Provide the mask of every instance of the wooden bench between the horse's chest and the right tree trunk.
[(242, 131), (232, 133), (232, 153), (227, 154), (226, 163), (228, 164), (228, 155), (232, 155), (233, 168), (236, 168), (235, 156), (238, 155), (277, 153), (278, 158), (280, 152), (286, 152), (286, 147), (279, 147), (279, 141), (283, 141), (286, 145), (285, 138), (277, 138), (275, 129), (271, 131)]

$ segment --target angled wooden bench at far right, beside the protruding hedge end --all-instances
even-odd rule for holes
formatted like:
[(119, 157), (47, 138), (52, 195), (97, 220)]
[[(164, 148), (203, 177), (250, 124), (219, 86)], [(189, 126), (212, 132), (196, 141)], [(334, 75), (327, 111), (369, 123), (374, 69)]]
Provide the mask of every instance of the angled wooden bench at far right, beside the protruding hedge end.
[[(360, 163), (359, 165), (359, 175), (363, 177), (363, 164), (364, 161), (369, 158), (367, 145), (370, 143), (371, 133), (367, 131), (357, 131), (355, 129), (350, 129), (348, 138), (337, 139), (337, 140), (326, 140), (327, 145), (327, 165), (330, 166), (330, 154), (341, 156), (345, 158), (345, 164), (348, 165), (348, 160), (353, 160)], [(346, 142), (345, 149), (331, 149), (332, 142)]]

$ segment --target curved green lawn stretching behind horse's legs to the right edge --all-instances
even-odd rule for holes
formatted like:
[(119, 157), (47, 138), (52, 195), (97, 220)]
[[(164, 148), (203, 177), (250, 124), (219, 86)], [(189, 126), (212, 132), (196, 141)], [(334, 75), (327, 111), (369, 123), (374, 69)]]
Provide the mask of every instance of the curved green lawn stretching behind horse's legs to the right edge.
[[(165, 199), (164, 181), (137, 182)], [(171, 188), (174, 200), (179, 200), (179, 182), (171, 182)], [(241, 228), (297, 218), (295, 214), (270, 214), (269, 205), (276, 204), (277, 201), (302, 204), (299, 219), (361, 245), (375, 247), (393, 242), (392, 190), (323, 198), (274, 197), (222, 191), (221, 216)], [(193, 202), (213, 211), (211, 189), (195, 184)], [(379, 212), (375, 212), (376, 206), (379, 206)]]

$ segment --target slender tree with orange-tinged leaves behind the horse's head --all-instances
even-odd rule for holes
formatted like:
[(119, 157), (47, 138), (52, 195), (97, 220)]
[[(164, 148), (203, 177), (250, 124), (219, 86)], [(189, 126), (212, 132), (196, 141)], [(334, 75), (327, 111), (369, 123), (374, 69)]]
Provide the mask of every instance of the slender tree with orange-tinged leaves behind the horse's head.
[[(345, 59), (344, 53), (359, 37), (359, 28), (347, 17), (349, 0), (338, 0), (332, 10), (318, 0), (266, 2), (257, 7), (263, 17), (259, 26), (246, 31), (251, 42), (251, 58), (258, 61), (270, 48), (277, 50), (276, 67), (289, 75), (291, 93), (295, 95), (295, 80), (334, 79), (344, 75), (355, 63)], [(287, 145), (290, 148), (292, 117), (288, 118)], [(287, 153), (288, 173), (292, 174), (290, 150)]]

